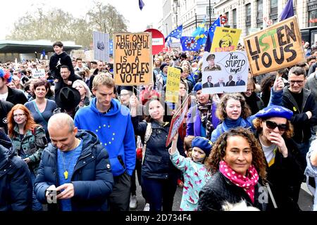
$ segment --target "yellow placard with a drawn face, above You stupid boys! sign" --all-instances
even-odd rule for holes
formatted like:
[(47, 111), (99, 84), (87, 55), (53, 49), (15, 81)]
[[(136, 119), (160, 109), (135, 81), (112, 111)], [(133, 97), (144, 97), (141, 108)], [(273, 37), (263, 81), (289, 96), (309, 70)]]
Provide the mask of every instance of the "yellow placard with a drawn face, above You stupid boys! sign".
[(216, 27), (210, 52), (235, 51), (241, 30), (228, 27)]

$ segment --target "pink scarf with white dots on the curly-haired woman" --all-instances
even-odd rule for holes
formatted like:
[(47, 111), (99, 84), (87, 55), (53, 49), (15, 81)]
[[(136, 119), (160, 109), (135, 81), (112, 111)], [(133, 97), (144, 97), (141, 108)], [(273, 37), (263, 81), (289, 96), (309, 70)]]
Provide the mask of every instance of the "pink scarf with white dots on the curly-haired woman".
[(242, 176), (237, 174), (233, 169), (231, 169), (227, 162), (221, 161), (219, 163), (219, 171), (223, 176), (230, 179), (230, 181), (238, 187), (243, 188), (243, 190), (249, 195), (252, 203), (254, 203), (254, 186), (259, 181), (258, 172), (254, 165), (251, 165), (247, 170), (247, 176)]

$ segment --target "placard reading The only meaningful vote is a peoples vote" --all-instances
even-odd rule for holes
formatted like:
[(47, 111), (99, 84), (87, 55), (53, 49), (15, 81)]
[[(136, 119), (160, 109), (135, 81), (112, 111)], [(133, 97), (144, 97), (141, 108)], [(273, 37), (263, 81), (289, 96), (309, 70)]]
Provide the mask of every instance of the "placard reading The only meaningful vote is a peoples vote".
[(117, 85), (152, 81), (151, 32), (113, 34), (114, 79)]

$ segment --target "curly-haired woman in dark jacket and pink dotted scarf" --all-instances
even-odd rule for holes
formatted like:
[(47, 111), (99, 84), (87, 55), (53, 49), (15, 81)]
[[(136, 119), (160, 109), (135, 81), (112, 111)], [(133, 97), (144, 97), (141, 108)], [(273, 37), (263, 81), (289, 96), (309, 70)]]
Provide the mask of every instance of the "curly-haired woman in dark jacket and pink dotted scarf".
[(208, 159), (212, 175), (199, 192), (199, 211), (221, 211), (228, 203), (244, 200), (248, 206), (266, 210), (268, 194), (264, 154), (254, 135), (239, 127), (223, 133)]

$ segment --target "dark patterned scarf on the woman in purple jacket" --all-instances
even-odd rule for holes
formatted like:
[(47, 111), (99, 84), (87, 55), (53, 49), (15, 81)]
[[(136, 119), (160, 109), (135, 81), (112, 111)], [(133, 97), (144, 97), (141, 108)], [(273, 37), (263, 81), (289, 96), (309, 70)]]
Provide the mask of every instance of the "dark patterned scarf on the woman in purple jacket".
[(204, 105), (197, 103), (201, 124), (206, 128), (206, 139), (210, 139), (211, 132), (213, 131), (213, 124), (211, 124), (212, 108), (213, 103), (211, 103), (211, 100), (209, 100), (209, 102)]

